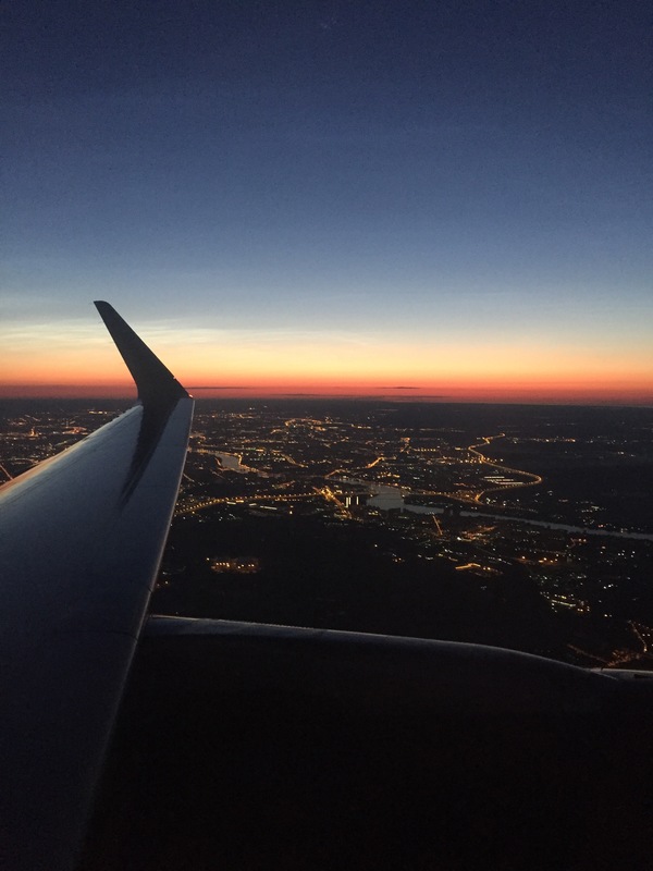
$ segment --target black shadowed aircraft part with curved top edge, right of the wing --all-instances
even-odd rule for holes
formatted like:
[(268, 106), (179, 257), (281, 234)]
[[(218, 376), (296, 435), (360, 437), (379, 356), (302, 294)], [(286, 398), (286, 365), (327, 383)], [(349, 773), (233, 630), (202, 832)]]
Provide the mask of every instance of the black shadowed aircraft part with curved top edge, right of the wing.
[(644, 871), (652, 675), (608, 674), (150, 617), (83, 869)]

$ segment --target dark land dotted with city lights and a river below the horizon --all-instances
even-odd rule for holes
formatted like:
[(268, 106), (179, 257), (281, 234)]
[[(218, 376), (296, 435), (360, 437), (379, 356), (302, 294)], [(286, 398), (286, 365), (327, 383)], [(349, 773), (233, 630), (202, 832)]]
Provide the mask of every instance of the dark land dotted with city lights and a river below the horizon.
[[(3, 474), (127, 405), (3, 401)], [(651, 492), (650, 408), (200, 400), (152, 611), (651, 668)]]

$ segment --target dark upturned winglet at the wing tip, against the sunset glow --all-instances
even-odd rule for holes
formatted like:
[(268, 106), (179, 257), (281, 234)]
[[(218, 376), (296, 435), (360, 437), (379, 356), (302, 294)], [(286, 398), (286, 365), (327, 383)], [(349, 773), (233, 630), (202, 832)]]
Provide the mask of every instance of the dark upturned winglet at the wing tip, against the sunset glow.
[(145, 407), (169, 406), (189, 395), (113, 306), (101, 300), (96, 300), (95, 306), (136, 382), (138, 398)]

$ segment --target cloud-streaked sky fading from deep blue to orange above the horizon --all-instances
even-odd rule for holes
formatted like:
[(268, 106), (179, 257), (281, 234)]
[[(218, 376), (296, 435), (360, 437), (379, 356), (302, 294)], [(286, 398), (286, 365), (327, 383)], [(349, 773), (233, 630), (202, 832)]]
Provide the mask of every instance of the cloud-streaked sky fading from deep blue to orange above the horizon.
[(127, 393), (103, 298), (221, 395), (653, 404), (646, 3), (3, 19), (0, 395)]

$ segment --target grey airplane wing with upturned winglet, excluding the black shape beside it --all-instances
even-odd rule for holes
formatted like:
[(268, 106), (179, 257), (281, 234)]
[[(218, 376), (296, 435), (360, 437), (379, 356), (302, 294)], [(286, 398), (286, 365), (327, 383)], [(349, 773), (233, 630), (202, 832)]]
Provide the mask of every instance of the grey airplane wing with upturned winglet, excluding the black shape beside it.
[(0, 488), (0, 866), (73, 868), (165, 543), (193, 400), (96, 303), (139, 402)]

